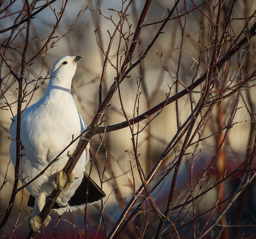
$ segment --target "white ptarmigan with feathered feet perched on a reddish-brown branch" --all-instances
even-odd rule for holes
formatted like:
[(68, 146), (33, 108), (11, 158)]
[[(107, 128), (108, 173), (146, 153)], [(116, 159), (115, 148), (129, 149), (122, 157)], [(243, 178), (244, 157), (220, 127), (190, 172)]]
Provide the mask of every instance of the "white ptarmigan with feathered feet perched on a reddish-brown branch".
[[(50, 80), (43, 97), (35, 104), (27, 107), (21, 117), (21, 144), (23, 146), (23, 178), (29, 182), (38, 175), (68, 144), (86, 129), (81, 115), (76, 109), (71, 94), (71, 81), (75, 75), (77, 61), (81, 56), (64, 56), (55, 62)], [(10, 126), (12, 138), (16, 138), (16, 118)], [(61, 189), (53, 209), (59, 215), (84, 209), (88, 175), (84, 172), (90, 159), (88, 144), (78, 160), (67, 182), (62, 169), (66, 165), (69, 154), (75, 151), (78, 140), (65, 150), (58, 161), (54, 162), (43, 175), (28, 185), (30, 192), (28, 206), (34, 207), (28, 223), (33, 231), (38, 231), (41, 224), (47, 226), (50, 216), (41, 222), (41, 212), (47, 196), (55, 188)], [(10, 145), (10, 156), (15, 164), (16, 142)], [(20, 169), (21, 173), (21, 169)], [(67, 183), (67, 184), (66, 184)], [(66, 186), (64, 187), (64, 185)], [(87, 203), (93, 203), (105, 197), (105, 193), (92, 180), (89, 181)]]

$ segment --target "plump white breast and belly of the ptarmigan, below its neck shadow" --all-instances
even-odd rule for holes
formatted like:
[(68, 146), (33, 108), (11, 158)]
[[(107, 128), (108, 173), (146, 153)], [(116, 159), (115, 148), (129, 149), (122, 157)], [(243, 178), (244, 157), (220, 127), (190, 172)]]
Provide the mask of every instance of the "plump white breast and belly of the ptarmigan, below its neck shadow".
[[(28, 176), (25, 182), (38, 175), (70, 144), (73, 137), (76, 138), (83, 131), (82, 124), (84, 122), (75, 107), (72, 95), (59, 89), (52, 93), (54, 95), (44, 95), (36, 104), (28, 107), (22, 114), (23, 177)], [(58, 95), (58, 93), (60, 94)], [(12, 137), (15, 138), (15, 135), (12, 135)], [(44, 175), (28, 186), (27, 189), (32, 195), (36, 195), (40, 190), (45, 190), (48, 195), (50, 194), (53, 189), (52, 180), (55, 173), (62, 170), (66, 165), (69, 158), (67, 153), (72, 154), (74, 152), (78, 141), (65, 150), (59, 156), (59, 160), (47, 169)], [(15, 148), (15, 141), (12, 141), (10, 153), (15, 152)], [(14, 155), (11, 158), (14, 159)], [(86, 163), (86, 152), (84, 151), (73, 170), (75, 177), (78, 178), (74, 183), (78, 185), (81, 183)], [(69, 192), (69, 194), (73, 194), (73, 192)], [(59, 200), (61, 200), (61, 197)]]

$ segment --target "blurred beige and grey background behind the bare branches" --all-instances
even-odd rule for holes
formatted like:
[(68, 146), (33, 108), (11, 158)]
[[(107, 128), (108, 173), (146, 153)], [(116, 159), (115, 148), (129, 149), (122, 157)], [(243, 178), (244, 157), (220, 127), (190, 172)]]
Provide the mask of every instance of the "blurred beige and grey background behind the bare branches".
[[(29, 2), (31, 3), (31, 1)], [(164, 101), (166, 99), (166, 94), (169, 92), (170, 96), (174, 95), (176, 91), (179, 92), (183, 90), (184, 86), (189, 86), (193, 78), (196, 80), (201, 74), (207, 71), (209, 61), (212, 57), (211, 54), (214, 49), (215, 38), (214, 27), (210, 25), (211, 21), (209, 19), (216, 21), (219, 3), (218, 1), (194, 2), (197, 6), (200, 6), (198, 7), (199, 10), (195, 9), (195, 4), (193, 4), (192, 1), (181, 1), (178, 4), (172, 18), (184, 13), (187, 14), (180, 18), (172, 19), (166, 24), (163, 30), (164, 33), (160, 34), (153, 47), (149, 50), (149, 53), (141, 63), (141, 67), (139, 65), (135, 67), (130, 73), (130, 77), (122, 82), (120, 86), (122, 101), (124, 110), (129, 119), (133, 118), (134, 109), (136, 111), (138, 107), (138, 101), (136, 101), (138, 78), (142, 78), (139, 89), (141, 94), (139, 97), (138, 108), (138, 114), (141, 114)], [(223, 46), (221, 57), (226, 54), (229, 47), (232, 46), (233, 41), (235, 41), (238, 36), (239, 38), (237, 42), (244, 37), (244, 30), (249, 30), (255, 21), (255, 1), (222, 1), (219, 39), (223, 34), (224, 24), (227, 16), (230, 14), (234, 2), (236, 2), (236, 7), (232, 15), (230, 27), (228, 28), (228, 34), (226, 36), (227, 41)], [(144, 3), (145, 1), (133, 1), (129, 7), (126, 15), (127, 19), (123, 24), (123, 33), (125, 33), (125, 37), (135, 31)], [(33, 11), (36, 11), (43, 4), (45, 4), (45, 1), (37, 1)], [(43, 49), (38, 55), (37, 53), (46, 43), (53, 31), (54, 24), (56, 24), (54, 11), (58, 15), (61, 11), (61, 7), (64, 6), (64, 1), (57, 0), (53, 2), (50, 4), (50, 7), (46, 7), (36, 14), (35, 18), (31, 19), (30, 40), (26, 60), (29, 61), (29, 59), (33, 58), (35, 55), (37, 56), (31, 61), (31, 64), (28, 66), (25, 73), (25, 77), (27, 77), (27, 84), (24, 85), (25, 91), (27, 92), (25, 99), (27, 101), (30, 99), (36, 84), (39, 87), (35, 91), (30, 105), (38, 101), (44, 94), (47, 88), (50, 70), (54, 62), (64, 55), (80, 55), (82, 59), (78, 62), (76, 74), (73, 78), (72, 93), (78, 111), (87, 125), (90, 124), (98, 108), (99, 84), (105, 59), (104, 53), (107, 51), (110, 41), (109, 33), (112, 34), (115, 30), (115, 25), (113, 23), (118, 24), (118, 21), (120, 20), (121, 14), (120, 12), (118, 13), (118, 11), (121, 11), (122, 7), (125, 8), (127, 4), (127, 1), (124, 1), (124, 3), (122, 3), (122, 1), (100, 0), (69, 1), (65, 7), (61, 21), (58, 24), (58, 28), (50, 39), (47, 51)], [(144, 24), (163, 20), (168, 15), (168, 10), (166, 8), (171, 10), (173, 5), (173, 1), (152, 1), (144, 20)], [(1, 1), (0, 29), (12, 26), (17, 19), (21, 18), (25, 10), (26, 7), (24, 1)], [(208, 16), (209, 19), (206, 16)], [(184, 29), (184, 36), (182, 37), (182, 27), (184, 27), (185, 19), (186, 27)], [(134, 53), (134, 61), (138, 60), (141, 51), (144, 51), (150, 44), (160, 26), (161, 22), (158, 24), (149, 24), (142, 28), (140, 35), (141, 50), (139, 44), (137, 44)], [(97, 31), (95, 31), (96, 29)], [(240, 33), (243, 34), (240, 36)], [(25, 30), (21, 30), (21, 26), (14, 31), (6, 31), (0, 34), (0, 50), (2, 52), (5, 50), (2, 47), (5, 44), (12, 47), (8, 48), (5, 52), (5, 58), (8, 60), (8, 64), (16, 70), (15, 72), (17, 72), (17, 74), (19, 72), (18, 66), (21, 61), (21, 55), (18, 51), (22, 52), (24, 39)], [(212, 98), (217, 95), (216, 89), (218, 90), (223, 86), (229, 86), (232, 89), (232, 86), (248, 78), (248, 76), (255, 70), (255, 39), (256, 38), (252, 38), (250, 41), (251, 48), (241, 49), (241, 51), (226, 62), (222, 71), (219, 72), (219, 75), (217, 74), (215, 76), (216, 83), (215, 86), (212, 87), (212, 90), (215, 91), (215, 93), (212, 93)], [(182, 51), (182, 58), (179, 61), (179, 49), (181, 48), (182, 41), (182, 49), (184, 51)], [(109, 54), (109, 61), (119, 69), (120, 64), (118, 62), (117, 65), (116, 60), (118, 44), (119, 33), (118, 36), (114, 38)], [(99, 45), (102, 47), (102, 50)], [(209, 49), (209, 51), (207, 49)], [(121, 61), (124, 59), (126, 50), (126, 44), (122, 39), (121, 47), (119, 49), (119, 54), (123, 57)], [(199, 55), (201, 58), (200, 70), (198, 70), (197, 63), (199, 62)], [(107, 64), (103, 81), (103, 98), (116, 76), (116, 70), (111, 66), (110, 62)], [(180, 69), (177, 75), (178, 65), (180, 65)], [(177, 76), (181, 84), (177, 84), (176, 90), (176, 85), (174, 83)], [(4, 212), (8, 207), (14, 180), (13, 164), (8, 164), (10, 161), (9, 127), (11, 123), (10, 118), (13, 117), (12, 112), (14, 115), (16, 115), (17, 112), (16, 88), (18, 87), (18, 84), (17, 82), (14, 82), (8, 68), (3, 63), (2, 58), (0, 77), (2, 79), (0, 99), (0, 186), (4, 182), (4, 178), (6, 180), (6, 184), (2, 185), (0, 191), (0, 212)], [(203, 175), (205, 170), (207, 171), (203, 179), (199, 181), (200, 189), (197, 188), (194, 193), (194, 195), (197, 195), (220, 181), (223, 178), (223, 175), (229, 175), (230, 173), (235, 172), (242, 163), (249, 161), (249, 157), (253, 155), (256, 99), (255, 83), (253, 80), (254, 78), (242, 89), (238, 110), (235, 114), (235, 118), (232, 118), (232, 129), (228, 132), (221, 155), (218, 154), (218, 159), (214, 160), (210, 168), (206, 170), (209, 162), (216, 154), (216, 149), (218, 149), (218, 146), (223, 139), (237, 94), (231, 95), (227, 99), (223, 99), (220, 104), (215, 104), (211, 115), (209, 116), (209, 120), (207, 121), (207, 126), (202, 132), (203, 135), (198, 134), (193, 140), (193, 142), (196, 142), (199, 139), (199, 136), (202, 136), (203, 138), (194, 154), (193, 166), (191, 166), (191, 158), (196, 143), (192, 143), (186, 150), (186, 155), (183, 157), (177, 183), (175, 185), (174, 202), (176, 202), (176, 205), (183, 203), (191, 191), (191, 168), (193, 171), (193, 186), (198, 182), (198, 179)], [(220, 88), (218, 88), (218, 85), (220, 85)], [(169, 87), (171, 87), (171, 89)], [(202, 87), (199, 86), (195, 90), (201, 91)], [(199, 98), (200, 94), (198, 92), (193, 92), (193, 106), (196, 105)], [(12, 112), (4, 102), (8, 102)], [(107, 120), (107, 124), (112, 125), (126, 121), (123, 111), (121, 110), (118, 92), (114, 94), (110, 103), (111, 106), (107, 107), (104, 111), (106, 114), (104, 119)], [(26, 102), (24, 102), (23, 108), (25, 105)], [(203, 110), (202, 114), (206, 113), (207, 109), (208, 108)], [(178, 112), (179, 124), (181, 126), (191, 114), (189, 94), (179, 99)], [(137, 112), (135, 112), (135, 116), (137, 116)], [(164, 107), (164, 110), (161, 111), (156, 118), (149, 117), (139, 123), (139, 130), (141, 131), (143, 129), (143, 131), (138, 134), (138, 154), (145, 175), (148, 175), (153, 165), (176, 134), (176, 116), (174, 102)], [(197, 122), (199, 122), (200, 119), (199, 116)], [(149, 122), (150, 124), (148, 124)], [(145, 126), (146, 128), (144, 129)], [(135, 132), (136, 130), (137, 125), (135, 126)], [(92, 156), (99, 146), (102, 136), (103, 135), (95, 135), (92, 138), (90, 149)], [(161, 171), (164, 172), (164, 170), (167, 170), (173, 165), (172, 162), (174, 159), (177, 159), (183, 140), (184, 137), (180, 139), (178, 144), (176, 144), (172, 151), (167, 155), (158, 171), (159, 173)], [(89, 238), (106, 238), (106, 235), (109, 234), (118, 217), (121, 215), (121, 212), (134, 194), (134, 187), (135, 190), (137, 190), (141, 186), (141, 179), (132, 153), (133, 147), (129, 127), (104, 135), (103, 144), (99, 149), (95, 166), (92, 170), (92, 178), (102, 186), (107, 197), (104, 198), (102, 202), (98, 202), (95, 205), (88, 207), (87, 222)], [(89, 170), (89, 167), (90, 165), (88, 165), (87, 170)], [(251, 169), (253, 168), (255, 168), (254, 164), (251, 164)], [(246, 165), (240, 169), (247, 169)], [(101, 178), (99, 178), (99, 175)], [(164, 183), (160, 184), (161, 187), (158, 186), (152, 193), (152, 196), (156, 197), (155, 202), (162, 212), (165, 211), (169, 197), (172, 175), (173, 171), (164, 178)], [(181, 228), (179, 230), (179, 236), (181, 238), (197, 238), (200, 236), (200, 232), (203, 230), (204, 225), (206, 225), (206, 221), (208, 222), (209, 220), (209, 223), (214, 221), (215, 215), (220, 213), (218, 207), (214, 209), (216, 203), (218, 203), (221, 197), (223, 197), (224, 200), (230, 195), (234, 195), (238, 185), (241, 183), (241, 178), (243, 177), (243, 171), (235, 172), (225, 181), (222, 185), (222, 189), (214, 187), (212, 190), (209, 190), (208, 193), (200, 197), (193, 206), (192, 204), (189, 204), (190, 206), (183, 209), (183, 212), (180, 211), (181, 208), (174, 211), (170, 218), (173, 217), (172, 219), (174, 221), (176, 220), (175, 222), (177, 224), (175, 223), (175, 225), (177, 227), (181, 226), (182, 223), (185, 224), (191, 221), (191, 218), (195, 218), (195, 215), (192, 215), (193, 212), (195, 212), (196, 215), (202, 215), (201, 217), (198, 217), (194, 223), (188, 224), (188, 226), (183, 229)], [(152, 185), (150, 184), (150, 188), (153, 187), (157, 181), (159, 181), (159, 178), (156, 175), (155, 179), (152, 181)], [(115, 186), (118, 187), (115, 188)], [(112, 191), (112, 189), (114, 190)], [(16, 238), (24, 238), (29, 231), (26, 220), (29, 215), (31, 215), (33, 209), (27, 207), (28, 196), (29, 193), (25, 190), (21, 215), (19, 216), (17, 228), (13, 234)], [(15, 207), (11, 213), (11, 218), (4, 229), (4, 234), (2, 235), (3, 238), (10, 237), (21, 206), (21, 197), (21, 192), (19, 192), (16, 196)], [(243, 191), (243, 194), (238, 200), (236, 200), (235, 205), (226, 212), (222, 224), (256, 224), (255, 197), (255, 186), (251, 183)], [(105, 201), (103, 220), (102, 205)], [(147, 203), (149, 202), (147, 201)], [(150, 205), (141, 207), (146, 210), (147, 208), (150, 208)], [(209, 210), (212, 207), (213, 209)], [(223, 209), (221, 206), (220, 208)], [(209, 210), (209, 213), (205, 213), (207, 210)], [(121, 233), (118, 238), (152, 238), (157, 228), (156, 225), (158, 225), (158, 219), (156, 216), (152, 215), (153, 212), (151, 212), (151, 215), (150, 211), (148, 213), (149, 214), (147, 215), (146, 211), (138, 211), (138, 215), (134, 215), (132, 221), (128, 223), (124, 229), (124, 233)], [(178, 217), (177, 215), (179, 213), (181, 213), (181, 215)], [(2, 215), (3, 213), (1, 216)], [(84, 212), (71, 214), (65, 213), (61, 218), (54, 212), (51, 212), (50, 215), (53, 220), (49, 226), (45, 229), (41, 229), (41, 234), (38, 233), (37, 235), (38, 238), (41, 235), (44, 235), (43, 238), (78, 238), (79, 233), (82, 238), (85, 238)], [(146, 224), (144, 225), (144, 223), (146, 223), (145, 220), (148, 220), (147, 222), (149, 226), (145, 226)], [(182, 223), (180, 223), (181, 221)], [(101, 225), (99, 226), (100, 223)], [(103, 223), (105, 225), (103, 225)], [(173, 227), (169, 228), (168, 225), (166, 225), (166, 228), (166, 235), (164, 237), (163, 233), (163, 238), (169, 238), (170, 235), (177, 236), (176, 234), (172, 234)], [(193, 228), (196, 228), (196, 230)], [(145, 231), (143, 229), (145, 229)], [(195, 233), (193, 233), (193, 230)], [(225, 230), (225, 227), (216, 226), (206, 238), (223, 237), (222, 233)], [(232, 227), (228, 229), (226, 236), (228, 235), (229, 238), (242, 238), (242, 236), (244, 236), (244, 238), (250, 238), (249, 236), (252, 236), (254, 232), (255, 227), (253, 226), (239, 228)]]

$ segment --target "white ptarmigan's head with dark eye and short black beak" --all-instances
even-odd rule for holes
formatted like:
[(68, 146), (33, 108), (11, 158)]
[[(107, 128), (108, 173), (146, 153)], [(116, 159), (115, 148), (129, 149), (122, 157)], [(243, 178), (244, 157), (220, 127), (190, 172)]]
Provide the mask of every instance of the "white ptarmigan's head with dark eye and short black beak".
[(61, 87), (71, 86), (72, 78), (75, 75), (76, 63), (79, 59), (81, 59), (81, 56), (78, 55), (67, 55), (58, 59), (51, 70), (49, 83)]

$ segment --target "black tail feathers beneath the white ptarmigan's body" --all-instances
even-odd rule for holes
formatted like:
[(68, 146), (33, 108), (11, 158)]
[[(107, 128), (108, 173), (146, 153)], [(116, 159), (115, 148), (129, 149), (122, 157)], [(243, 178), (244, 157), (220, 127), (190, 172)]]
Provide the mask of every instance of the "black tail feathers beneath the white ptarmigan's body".
[[(87, 184), (89, 180), (89, 175), (84, 172), (84, 177), (81, 184), (75, 190), (75, 194), (68, 201), (69, 206), (79, 206), (86, 204), (86, 192)], [(90, 178), (88, 187), (88, 201), (87, 203), (93, 203), (101, 200), (101, 198), (106, 197), (105, 192)], [(30, 194), (27, 201), (27, 206), (34, 207), (35, 197)], [(54, 203), (53, 209), (61, 208), (57, 203)]]

